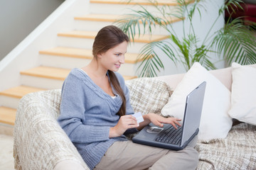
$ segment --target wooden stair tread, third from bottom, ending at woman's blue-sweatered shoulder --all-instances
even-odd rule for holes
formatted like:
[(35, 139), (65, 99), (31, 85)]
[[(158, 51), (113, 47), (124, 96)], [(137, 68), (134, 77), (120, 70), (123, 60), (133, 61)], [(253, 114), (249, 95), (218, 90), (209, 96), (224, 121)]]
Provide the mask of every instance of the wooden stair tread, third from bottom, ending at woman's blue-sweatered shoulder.
[(65, 80), (68, 76), (70, 69), (61, 69), (55, 67), (34, 67), (32, 69), (26, 69), (21, 71), (21, 75), (27, 75), (32, 77), (42, 77), (46, 79)]

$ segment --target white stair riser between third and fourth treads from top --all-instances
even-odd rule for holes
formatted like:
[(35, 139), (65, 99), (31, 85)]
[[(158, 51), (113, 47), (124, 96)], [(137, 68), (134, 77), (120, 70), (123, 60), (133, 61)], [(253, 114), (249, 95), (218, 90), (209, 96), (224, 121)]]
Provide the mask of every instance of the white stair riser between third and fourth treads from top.
[[(92, 49), (93, 39), (87, 38), (71, 38), (71, 37), (58, 37), (58, 46), (59, 47), (75, 47), (75, 48), (85, 48)], [(146, 45), (143, 42), (130, 43), (127, 48), (127, 52), (138, 53), (142, 47)]]

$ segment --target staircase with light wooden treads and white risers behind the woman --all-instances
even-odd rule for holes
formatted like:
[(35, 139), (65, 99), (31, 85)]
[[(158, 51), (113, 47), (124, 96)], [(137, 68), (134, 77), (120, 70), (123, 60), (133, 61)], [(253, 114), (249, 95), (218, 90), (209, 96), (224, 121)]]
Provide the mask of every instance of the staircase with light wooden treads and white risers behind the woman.
[[(112, 25), (119, 17), (117, 13), (124, 13), (126, 8), (132, 8), (134, 4), (151, 8), (144, 0), (134, 0), (130, 4), (122, 0), (90, 0), (90, 14), (75, 16), (73, 30), (58, 33), (55, 47), (39, 51), (38, 60), (41, 65), (21, 71), (20, 86), (0, 91), (0, 125), (13, 127), (18, 101), (22, 96), (36, 91), (60, 89), (70, 69), (88, 64), (92, 59), (92, 42), (97, 31)], [(174, 1), (159, 0), (159, 5), (176, 4)], [(178, 19), (171, 18), (171, 21), (176, 22)], [(141, 62), (137, 60), (137, 55), (145, 43), (167, 38), (161, 30), (155, 30), (154, 33), (151, 37), (136, 36), (134, 43), (129, 45), (125, 64), (119, 69), (124, 79), (137, 77), (137, 64)]]

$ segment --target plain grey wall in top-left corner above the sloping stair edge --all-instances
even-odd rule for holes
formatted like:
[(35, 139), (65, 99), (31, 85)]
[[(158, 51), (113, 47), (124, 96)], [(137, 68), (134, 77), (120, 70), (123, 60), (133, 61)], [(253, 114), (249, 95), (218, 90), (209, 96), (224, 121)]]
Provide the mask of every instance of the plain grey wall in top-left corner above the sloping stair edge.
[(0, 0), (0, 60), (64, 0)]

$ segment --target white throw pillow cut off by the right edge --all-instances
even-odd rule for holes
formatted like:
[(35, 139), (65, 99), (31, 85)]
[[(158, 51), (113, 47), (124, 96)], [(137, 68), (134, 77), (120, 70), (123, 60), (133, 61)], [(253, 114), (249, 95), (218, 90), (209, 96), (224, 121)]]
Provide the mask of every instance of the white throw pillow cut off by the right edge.
[(256, 69), (232, 64), (232, 94), (229, 115), (245, 123), (256, 125)]

